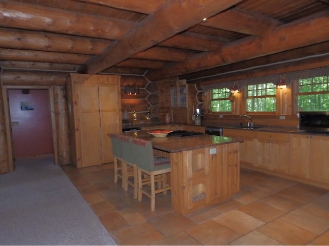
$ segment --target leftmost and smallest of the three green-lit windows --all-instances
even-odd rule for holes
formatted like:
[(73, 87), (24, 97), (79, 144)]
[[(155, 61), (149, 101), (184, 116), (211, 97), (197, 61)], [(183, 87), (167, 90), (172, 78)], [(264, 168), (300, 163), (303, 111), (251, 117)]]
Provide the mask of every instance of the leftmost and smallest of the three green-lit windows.
[(231, 112), (232, 104), (229, 101), (231, 92), (227, 88), (212, 89), (211, 111), (212, 112)]

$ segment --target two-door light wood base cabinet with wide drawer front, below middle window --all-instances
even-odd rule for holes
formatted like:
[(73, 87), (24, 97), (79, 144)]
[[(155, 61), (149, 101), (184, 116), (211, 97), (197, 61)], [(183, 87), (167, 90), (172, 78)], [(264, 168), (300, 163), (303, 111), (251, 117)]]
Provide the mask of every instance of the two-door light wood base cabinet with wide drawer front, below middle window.
[(288, 173), (289, 134), (256, 132), (255, 166)]

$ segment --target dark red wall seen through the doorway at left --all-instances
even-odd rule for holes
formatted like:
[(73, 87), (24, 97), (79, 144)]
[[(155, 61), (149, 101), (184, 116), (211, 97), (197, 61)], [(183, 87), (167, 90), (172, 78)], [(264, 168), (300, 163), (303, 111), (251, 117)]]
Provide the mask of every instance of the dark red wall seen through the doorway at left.
[[(14, 157), (53, 154), (48, 90), (8, 90)], [(34, 110), (21, 110), (21, 102)]]

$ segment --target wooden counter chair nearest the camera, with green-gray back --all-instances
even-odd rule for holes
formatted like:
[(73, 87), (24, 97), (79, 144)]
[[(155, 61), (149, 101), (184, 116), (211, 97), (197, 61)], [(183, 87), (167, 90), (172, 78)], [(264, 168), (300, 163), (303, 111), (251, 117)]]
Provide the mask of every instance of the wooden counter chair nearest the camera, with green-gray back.
[[(138, 201), (142, 194), (151, 198), (151, 211), (155, 210), (155, 195), (171, 190), (166, 174), (171, 172), (170, 159), (153, 154), (150, 141), (133, 138), (133, 155), (138, 173)], [(146, 174), (145, 176), (142, 174)], [(155, 184), (157, 183), (157, 187)], [(150, 185), (147, 186), (147, 185)]]

